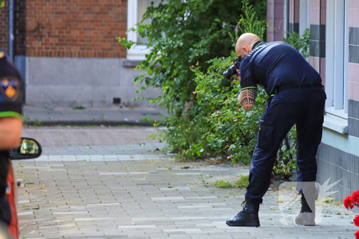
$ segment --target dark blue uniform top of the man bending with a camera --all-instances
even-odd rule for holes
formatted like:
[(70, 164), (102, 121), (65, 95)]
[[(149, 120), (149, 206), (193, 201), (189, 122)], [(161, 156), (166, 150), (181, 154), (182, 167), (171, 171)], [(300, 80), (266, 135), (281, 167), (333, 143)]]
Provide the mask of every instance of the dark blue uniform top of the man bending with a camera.
[(268, 95), (278, 86), (321, 83), (318, 72), (302, 54), (283, 41), (257, 41), (240, 66), (241, 90), (263, 85)]

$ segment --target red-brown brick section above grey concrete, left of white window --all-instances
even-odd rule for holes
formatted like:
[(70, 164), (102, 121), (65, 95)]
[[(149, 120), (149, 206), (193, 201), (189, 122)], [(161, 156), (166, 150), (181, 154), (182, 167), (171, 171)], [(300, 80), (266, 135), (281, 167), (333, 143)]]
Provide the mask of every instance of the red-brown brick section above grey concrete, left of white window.
[(126, 0), (27, 0), (27, 56), (126, 57)]

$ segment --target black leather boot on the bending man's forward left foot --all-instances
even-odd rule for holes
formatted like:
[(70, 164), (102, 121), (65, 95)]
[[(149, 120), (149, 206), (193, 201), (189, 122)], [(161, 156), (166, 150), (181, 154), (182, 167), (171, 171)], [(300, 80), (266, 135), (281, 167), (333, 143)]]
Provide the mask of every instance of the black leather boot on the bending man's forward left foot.
[(258, 218), (258, 211), (260, 205), (244, 201), (242, 203), (242, 211), (240, 211), (234, 218), (227, 219), (226, 224), (231, 227), (259, 227), (260, 219)]

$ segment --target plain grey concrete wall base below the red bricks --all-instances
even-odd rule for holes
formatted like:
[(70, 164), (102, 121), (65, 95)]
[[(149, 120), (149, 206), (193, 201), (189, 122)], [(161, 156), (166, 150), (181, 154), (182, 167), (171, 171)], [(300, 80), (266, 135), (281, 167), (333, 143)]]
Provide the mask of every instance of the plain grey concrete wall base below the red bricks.
[(126, 107), (147, 107), (149, 101), (131, 99), (155, 97), (159, 92), (136, 94), (141, 85), (132, 84), (133, 77), (143, 72), (134, 66), (123, 58), (26, 57), (26, 104), (108, 107), (113, 98), (121, 98)]

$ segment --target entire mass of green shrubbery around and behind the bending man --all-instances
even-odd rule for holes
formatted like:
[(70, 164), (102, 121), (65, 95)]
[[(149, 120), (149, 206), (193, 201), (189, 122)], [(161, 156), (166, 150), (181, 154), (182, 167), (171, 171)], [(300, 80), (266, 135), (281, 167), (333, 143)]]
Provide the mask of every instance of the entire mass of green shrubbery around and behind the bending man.
[[(253, 110), (246, 112), (237, 103), (238, 81), (227, 80), (222, 74), (236, 57), (238, 13), (242, 12), (240, 33), (252, 32), (262, 39), (265, 35), (266, 24), (256, 17), (265, 16), (265, 12), (256, 14), (251, 3), (169, 0), (147, 9), (144, 19), (150, 18), (151, 25), (138, 25), (137, 32), (148, 38), (151, 52), (137, 67), (147, 73), (134, 81), (146, 83), (140, 92), (150, 86), (162, 89), (162, 96), (151, 102), (167, 107), (170, 116), (166, 130), (151, 137), (167, 140), (168, 149), (179, 158), (220, 158), (244, 164), (251, 160), (266, 93), (258, 89)], [(127, 48), (138, 44), (118, 40)], [(286, 41), (306, 54), (309, 31), (303, 36), (290, 34)], [(296, 166), (294, 129), (283, 145), (275, 173), (291, 172)]]

